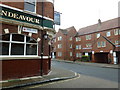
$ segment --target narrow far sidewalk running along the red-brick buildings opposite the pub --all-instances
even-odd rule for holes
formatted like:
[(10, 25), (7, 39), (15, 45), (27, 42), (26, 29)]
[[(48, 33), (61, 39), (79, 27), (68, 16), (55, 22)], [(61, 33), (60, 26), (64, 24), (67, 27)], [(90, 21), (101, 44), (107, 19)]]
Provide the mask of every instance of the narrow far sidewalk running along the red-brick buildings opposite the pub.
[(66, 62), (66, 63), (76, 63), (76, 64), (79, 64), (79, 65), (89, 65), (89, 66), (102, 67), (102, 68), (120, 69), (120, 66), (119, 65), (115, 65), (115, 64), (94, 63), (94, 62), (81, 62), (81, 61), (73, 62), (73, 61), (59, 60), (59, 59), (52, 59), (52, 60)]

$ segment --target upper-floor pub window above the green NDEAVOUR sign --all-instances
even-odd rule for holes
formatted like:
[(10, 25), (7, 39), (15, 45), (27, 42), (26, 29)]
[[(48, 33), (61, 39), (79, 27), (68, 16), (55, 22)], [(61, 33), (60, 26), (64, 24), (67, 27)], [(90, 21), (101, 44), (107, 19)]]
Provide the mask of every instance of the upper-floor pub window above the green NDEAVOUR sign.
[(24, 10), (36, 12), (36, 0), (24, 0)]

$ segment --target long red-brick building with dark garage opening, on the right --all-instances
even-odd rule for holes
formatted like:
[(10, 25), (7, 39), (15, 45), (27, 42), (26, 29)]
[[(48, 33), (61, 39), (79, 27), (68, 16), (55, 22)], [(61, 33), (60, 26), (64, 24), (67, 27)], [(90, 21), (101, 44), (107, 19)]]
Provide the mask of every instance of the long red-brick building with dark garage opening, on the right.
[[(120, 63), (120, 26), (118, 19), (105, 22), (98, 20), (97, 24), (79, 29), (78, 33), (74, 34), (73, 39), (74, 60), (81, 59), (83, 55), (86, 55), (92, 62)], [(66, 45), (67, 50), (68, 45)]]

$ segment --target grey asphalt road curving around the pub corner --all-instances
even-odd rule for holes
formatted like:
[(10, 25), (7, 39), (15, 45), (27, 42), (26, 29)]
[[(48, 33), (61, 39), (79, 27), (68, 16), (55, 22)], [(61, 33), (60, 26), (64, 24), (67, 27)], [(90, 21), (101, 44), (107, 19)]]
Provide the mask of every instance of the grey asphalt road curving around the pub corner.
[(58, 81), (27, 88), (118, 88), (118, 69), (101, 68), (52, 61), (52, 66), (72, 70), (80, 74), (70, 80)]

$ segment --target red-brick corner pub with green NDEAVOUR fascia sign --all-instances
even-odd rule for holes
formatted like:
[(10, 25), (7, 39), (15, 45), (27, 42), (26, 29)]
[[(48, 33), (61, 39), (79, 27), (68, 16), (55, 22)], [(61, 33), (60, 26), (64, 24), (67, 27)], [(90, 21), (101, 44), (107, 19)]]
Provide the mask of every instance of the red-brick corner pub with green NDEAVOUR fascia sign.
[(48, 74), (49, 40), (55, 32), (53, 2), (4, 0), (0, 7), (1, 80)]

